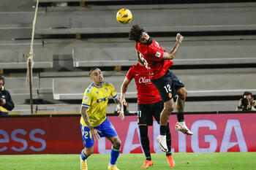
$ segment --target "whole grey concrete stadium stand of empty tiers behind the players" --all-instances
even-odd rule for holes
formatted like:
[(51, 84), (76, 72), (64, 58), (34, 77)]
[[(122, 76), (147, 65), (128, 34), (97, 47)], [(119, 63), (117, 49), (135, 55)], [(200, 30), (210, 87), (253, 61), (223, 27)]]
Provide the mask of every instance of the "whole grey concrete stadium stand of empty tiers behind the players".
[[(40, 0), (40, 3), (63, 1)], [(97, 5), (100, 1), (104, 5)], [(0, 69), (4, 69), (7, 88), (16, 105), (11, 113), (30, 113), (30, 106), (24, 102), (29, 98), (25, 70), (34, 16), (31, 5), (35, 5), (31, 2), (4, 0), (0, 8), (3, 21)], [(202, 2), (146, 4), (144, 1), (142, 5), (141, 1), (135, 4), (126, 0), (114, 5), (114, 1), (89, 0), (85, 7), (39, 7), (33, 98), (42, 98), (45, 103), (34, 104), (34, 112), (80, 112), (80, 100), (90, 84), (91, 66), (107, 70), (105, 80), (113, 83), (120, 93), (128, 66), (137, 62), (135, 43), (128, 40), (128, 31), (132, 24), (142, 21), (143, 28), (167, 51), (173, 46), (177, 32), (185, 36), (173, 72), (189, 91), (186, 112), (235, 110), (244, 90), (252, 93), (256, 90), (252, 79), (256, 74), (256, 3)], [(125, 3), (134, 18), (131, 24), (122, 25), (116, 21), (116, 12)], [(9, 7), (5, 8), (7, 4)], [(75, 39), (75, 35), (80, 36)], [(114, 66), (123, 66), (122, 71), (110, 71)], [(127, 98), (131, 101), (129, 110), (136, 111), (136, 89), (132, 83)], [(110, 102), (107, 112), (114, 109)]]

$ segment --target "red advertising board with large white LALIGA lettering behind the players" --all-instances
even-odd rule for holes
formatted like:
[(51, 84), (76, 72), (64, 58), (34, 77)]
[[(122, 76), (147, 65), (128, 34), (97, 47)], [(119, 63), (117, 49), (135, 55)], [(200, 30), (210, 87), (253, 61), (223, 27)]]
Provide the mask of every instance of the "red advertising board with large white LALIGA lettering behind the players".
[[(122, 153), (142, 153), (137, 116), (121, 121), (109, 116), (121, 139)], [(36, 115), (0, 117), (0, 155), (78, 154), (83, 148), (80, 115)], [(174, 130), (176, 115), (170, 116), (173, 152), (256, 152), (256, 112), (186, 115), (194, 132), (186, 136)], [(149, 128), (151, 152), (161, 152), (156, 142), (159, 125)], [(109, 153), (105, 138), (94, 145), (94, 153)]]

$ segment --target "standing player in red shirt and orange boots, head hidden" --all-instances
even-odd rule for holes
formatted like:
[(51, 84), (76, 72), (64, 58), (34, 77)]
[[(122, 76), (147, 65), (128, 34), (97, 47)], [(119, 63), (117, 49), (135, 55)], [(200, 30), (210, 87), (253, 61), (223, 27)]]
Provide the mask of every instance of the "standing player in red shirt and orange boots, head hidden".
[[(141, 168), (148, 168), (149, 166), (153, 166), (148, 139), (148, 125), (153, 124), (153, 117), (157, 120), (157, 123), (159, 123), (164, 103), (161, 96), (159, 96), (157, 88), (151, 83), (148, 69), (143, 66), (143, 63), (138, 62), (129, 69), (127, 77), (125, 77), (124, 82), (121, 85), (120, 100), (123, 104), (125, 103), (127, 87), (133, 78), (135, 79), (138, 91), (138, 126), (140, 129), (140, 143), (143, 147), (144, 154), (146, 155), (146, 161)], [(175, 162), (173, 161), (173, 156), (170, 152), (171, 136), (169, 124), (167, 124), (166, 128), (166, 143), (168, 149), (166, 158), (169, 166), (173, 167), (175, 166)]]

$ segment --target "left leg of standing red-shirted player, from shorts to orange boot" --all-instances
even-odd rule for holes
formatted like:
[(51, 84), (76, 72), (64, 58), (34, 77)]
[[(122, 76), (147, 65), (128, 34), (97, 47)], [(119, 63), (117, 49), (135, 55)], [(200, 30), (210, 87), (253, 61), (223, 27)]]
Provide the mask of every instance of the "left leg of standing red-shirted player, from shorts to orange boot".
[(138, 104), (138, 125), (140, 129), (140, 143), (146, 156), (141, 168), (153, 166), (148, 139), (148, 125), (153, 125), (153, 110), (151, 104)]

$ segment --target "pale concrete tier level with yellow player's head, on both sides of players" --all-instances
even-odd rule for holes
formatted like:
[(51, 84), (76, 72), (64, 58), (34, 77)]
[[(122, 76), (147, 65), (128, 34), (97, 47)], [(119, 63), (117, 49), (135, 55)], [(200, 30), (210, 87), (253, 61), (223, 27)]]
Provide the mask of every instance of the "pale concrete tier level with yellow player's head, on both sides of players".
[[(245, 90), (255, 92), (256, 69), (188, 69), (173, 70), (184, 82), (188, 96), (240, 96)], [(105, 81), (111, 82), (120, 93), (123, 75), (105, 75)], [(91, 84), (89, 77), (53, 79), (53, 96), (59, 100), (81, 99), (85, 89)], [(129, 85), (127, 98), (136, 98), (135, 82)]]

